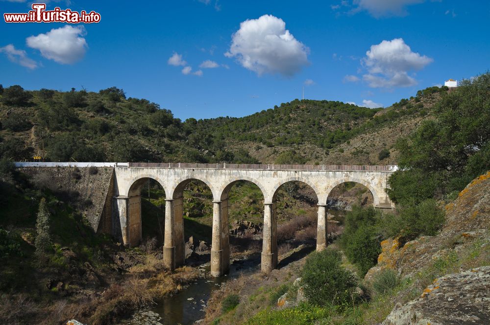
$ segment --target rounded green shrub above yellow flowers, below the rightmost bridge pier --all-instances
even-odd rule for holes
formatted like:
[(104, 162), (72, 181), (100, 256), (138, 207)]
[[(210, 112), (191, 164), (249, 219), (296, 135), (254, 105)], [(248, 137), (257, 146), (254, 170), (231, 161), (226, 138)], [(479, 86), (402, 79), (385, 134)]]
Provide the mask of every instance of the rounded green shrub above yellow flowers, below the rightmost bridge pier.
[(353, 301), (357, 281), (341, 263), (340, 253), (331, 249), (308, 256), (301, 272), (301, 283), (305, 285), (309, 302), (345, 306)]

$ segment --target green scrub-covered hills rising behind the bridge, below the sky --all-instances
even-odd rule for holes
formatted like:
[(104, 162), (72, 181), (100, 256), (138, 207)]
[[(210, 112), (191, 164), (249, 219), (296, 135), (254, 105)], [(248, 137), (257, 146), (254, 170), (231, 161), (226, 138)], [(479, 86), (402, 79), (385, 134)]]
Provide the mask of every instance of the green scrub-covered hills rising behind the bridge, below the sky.
[(11, 86), (0, 90), (0, 156), (16, 161), (43, 156), (47, 161), (391, 164), (396, 139), (430, 115), (446, 90), (428, 88), (386, 109), (296, 99), (242, 118), (182, 122), (115, 87), (94, 93)]

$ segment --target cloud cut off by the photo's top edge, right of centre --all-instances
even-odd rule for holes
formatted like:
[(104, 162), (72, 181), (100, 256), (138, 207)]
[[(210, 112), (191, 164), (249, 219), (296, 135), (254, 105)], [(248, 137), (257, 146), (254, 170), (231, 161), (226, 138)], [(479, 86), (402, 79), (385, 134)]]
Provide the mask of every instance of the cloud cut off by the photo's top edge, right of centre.
[(424, 0), (354, 0), (357, 5), (353, 12), (366, 10), (376, 18), (382, 16), (405, 16), (407, 15), (406, 6), (422, 3)]

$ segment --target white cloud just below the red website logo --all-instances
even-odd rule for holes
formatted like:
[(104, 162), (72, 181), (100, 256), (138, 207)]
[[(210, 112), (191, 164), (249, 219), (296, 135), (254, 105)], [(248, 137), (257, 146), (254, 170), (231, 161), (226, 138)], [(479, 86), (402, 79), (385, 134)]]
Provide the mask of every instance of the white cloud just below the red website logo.
[(69, 25), (53, 28), (46, 34), (29, 36), (27, 46), (38, 49), (41, 55), (61, 64), (73, 64), (80, 61), (87, 50), (83, 26)]

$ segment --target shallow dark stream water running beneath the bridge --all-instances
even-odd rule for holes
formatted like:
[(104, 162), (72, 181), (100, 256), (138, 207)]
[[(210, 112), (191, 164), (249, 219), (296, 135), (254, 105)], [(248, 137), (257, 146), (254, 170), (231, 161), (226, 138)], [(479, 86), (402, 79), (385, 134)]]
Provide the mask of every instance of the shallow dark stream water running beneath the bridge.
[[(234, 261), (230, 265), (229, 274), (219, 278), (200, 278), (172, 297), (157, 301), (152, 308), (153, 312), (162, 317), (160, 323), (164, 325), (191, 325), (204, 317), (204, 306), (208, 302), (211, 293), (220, 289), (221, 283), (229, 279), (238, 278), (240, 275), (251, 274), (258, 271), (260, 253), (251, 255), (245, 260)], [(209, 263), (205, 264), (206, 273), (210, 271)], [(191, 299), (192, 298), (192, 299)]]

